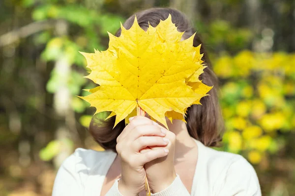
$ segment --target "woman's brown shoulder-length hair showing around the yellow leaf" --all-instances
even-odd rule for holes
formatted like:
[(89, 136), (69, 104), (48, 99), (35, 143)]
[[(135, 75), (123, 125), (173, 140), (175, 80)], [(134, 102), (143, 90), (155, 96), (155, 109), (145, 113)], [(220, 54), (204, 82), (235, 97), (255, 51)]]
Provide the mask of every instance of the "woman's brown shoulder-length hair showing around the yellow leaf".
[[(129, 29), (134, 22), (136, 15), (138, 24), (144, 30), (147, 30), (148, 23), (155, 27), (160, 23), (160, 20), (168, 18), (169, 14), (172, 16), (172, 22), (177, 26), (177, 30), (183, 32), (183, 38), (187, 39), (192, 36), (196, 31), (193, 29), (191, 22), (186, 16), (176, 9), (171, 8), (151, 8), (140, 11), (129, 17), (123, 26)], [(121, 29), (118, 29), (115, 34), (120, 36)], [(218, 103), (218, 79), (215, 73), (212, 71), (212, 66), (205, 50), (204, 44), (201, 41), (200, 35), (196, 33), (193, 41), (193, 46), (197, 47), (201, 45), (201, 53), (204, 53), (202, 60), (205, 61), (208, 66), (204, 73), (201, 74), (201, 80), (208, 86), (213, 86), (209, 91), (210, 96), (206, 96), (201, 99), (202, 105), (192, 105), (187, 110), (186, 126), (191, 137), (199, 140), (205, 146), (214, 147), (221, 141), (221, 135), (223, 132), (223, 119), (220, 112), (220, 106)], [(124, 120), (116, 125), (116, 116), (104, 121), (93, 117), (89, 126), (90, 134), (95, 141), (105, 149), (112, 149), (116, 151), (116, 139), (125, 127)]]

